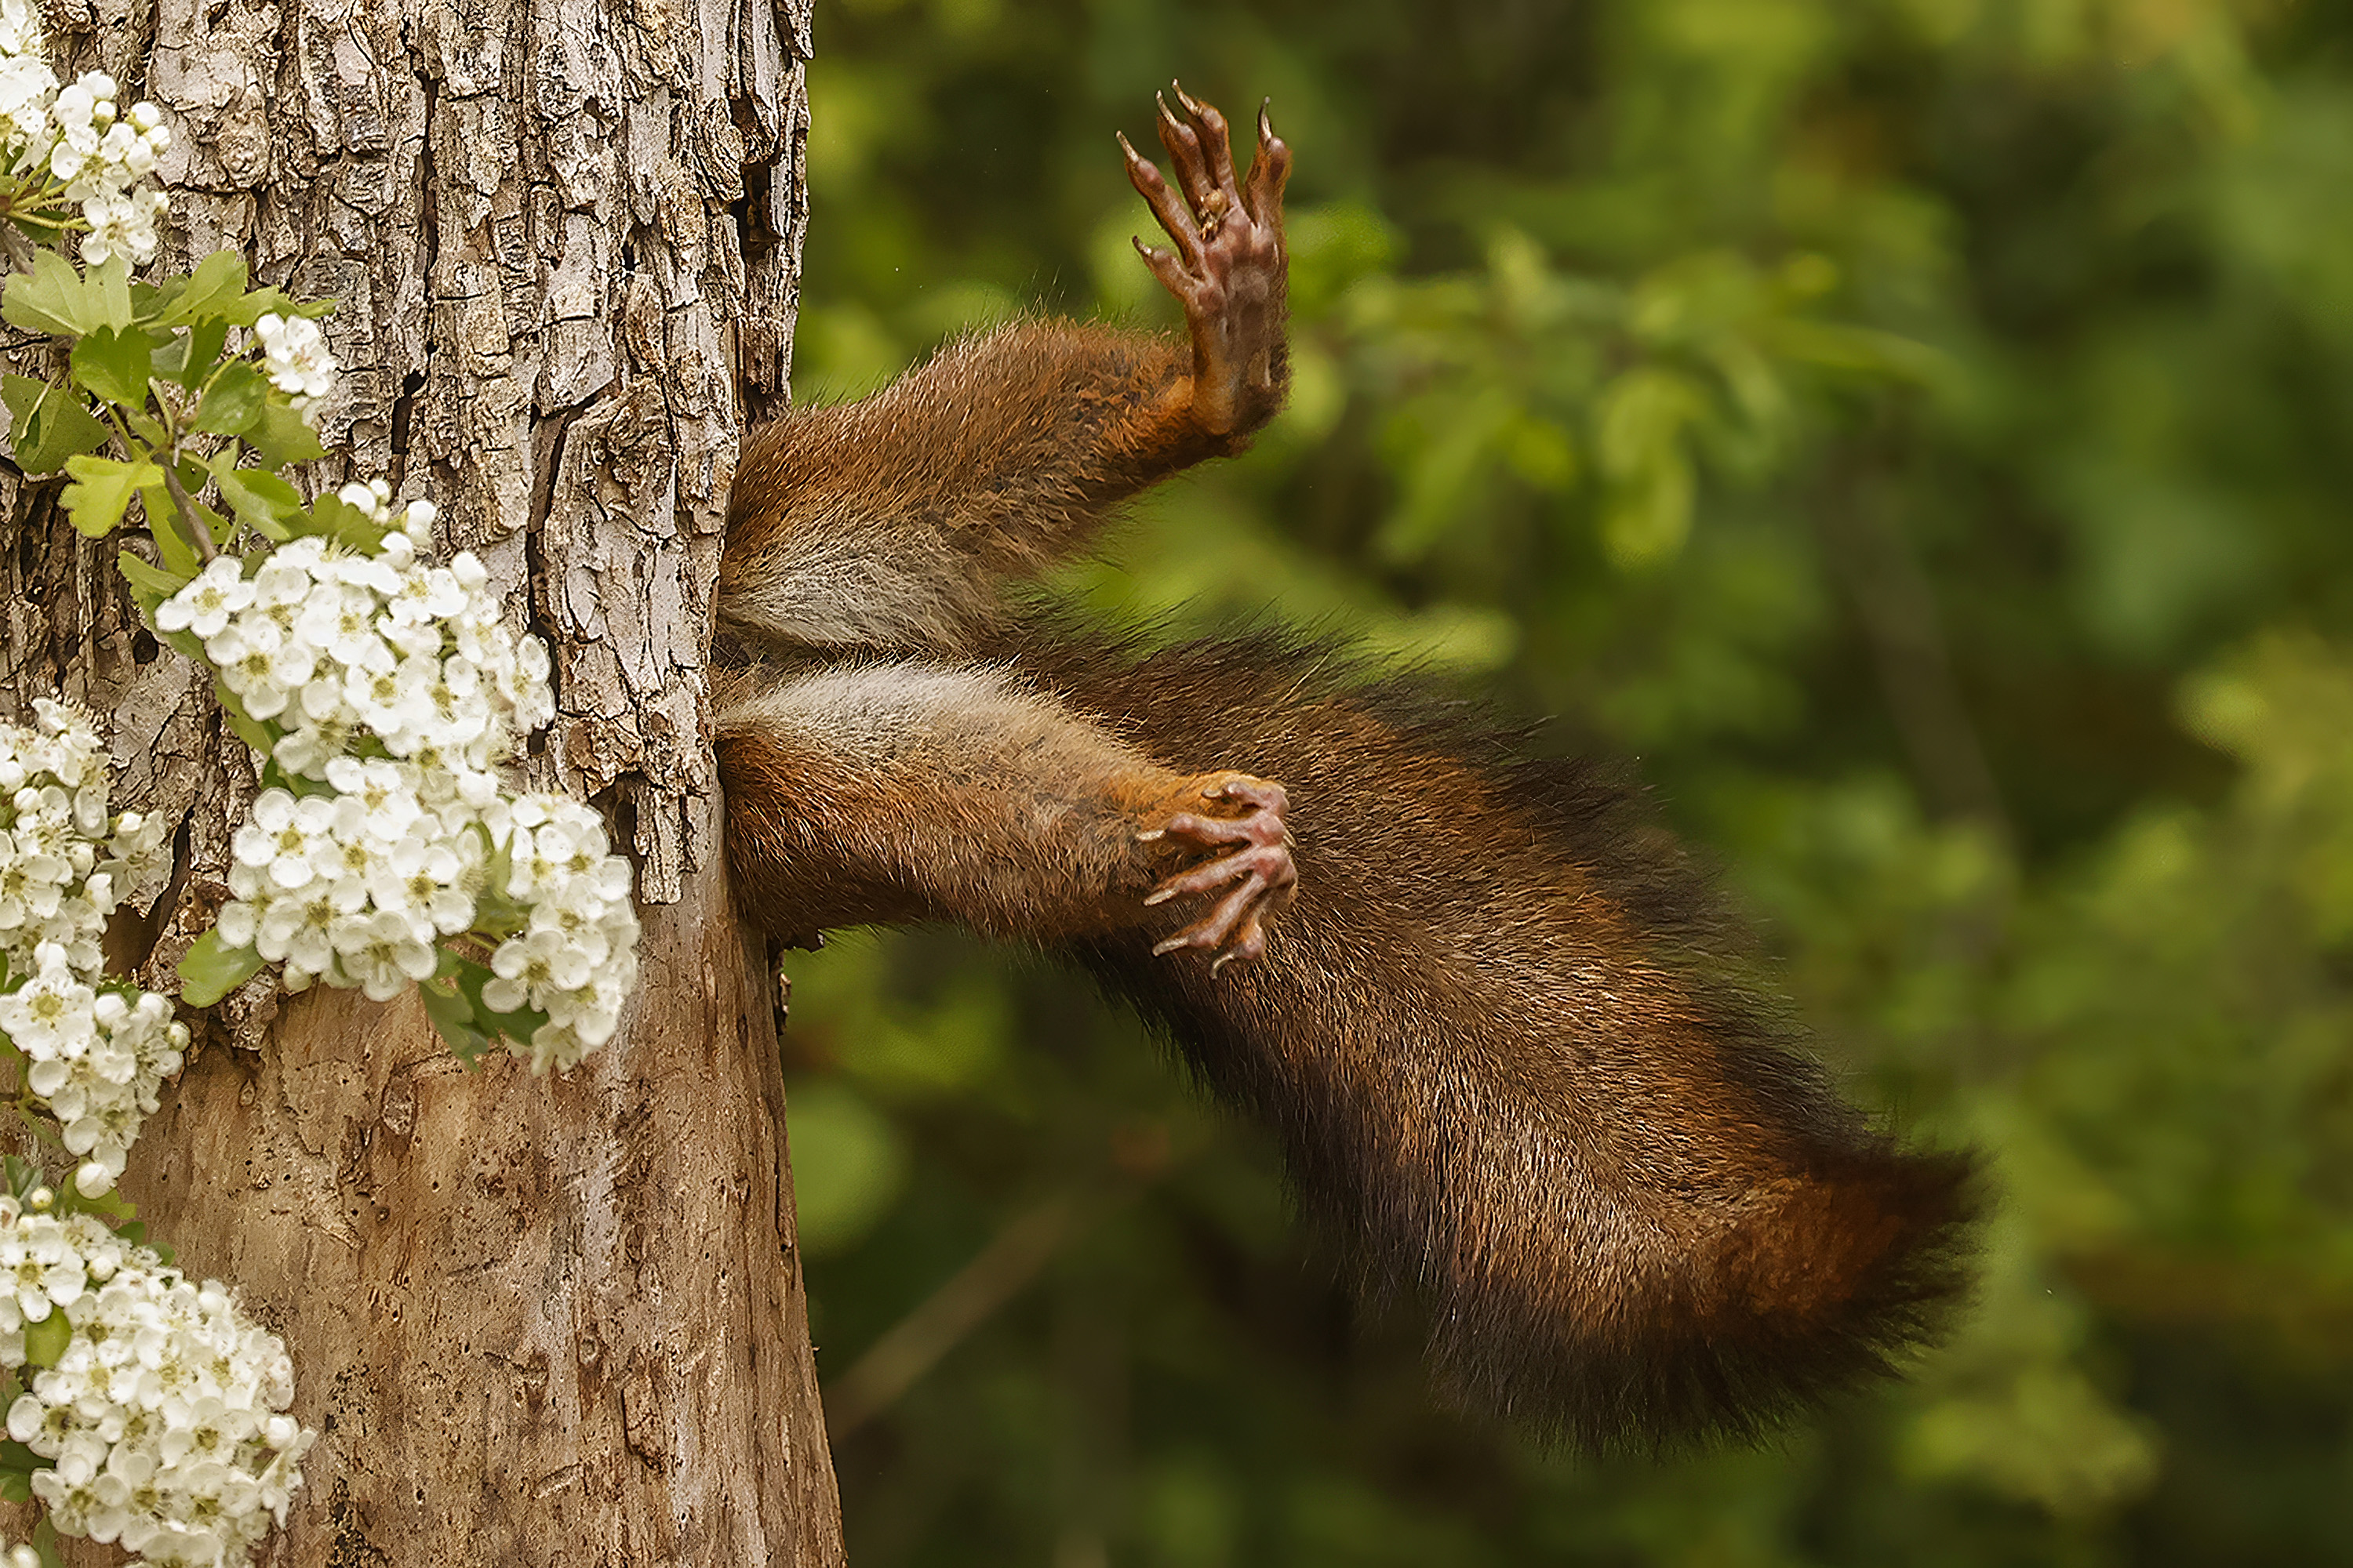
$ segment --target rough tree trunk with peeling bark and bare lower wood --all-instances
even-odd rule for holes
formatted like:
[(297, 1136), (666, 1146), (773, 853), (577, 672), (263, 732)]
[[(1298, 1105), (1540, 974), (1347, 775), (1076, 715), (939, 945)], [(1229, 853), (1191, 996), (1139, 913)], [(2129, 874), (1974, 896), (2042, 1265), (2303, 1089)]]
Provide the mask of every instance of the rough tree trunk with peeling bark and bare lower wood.
[[(772, 976), (729, 912), (701, 724), (744, 404), (784, 395), (807, 0), (47, 19), (61, 66), (169, 113), (169, 263), (242, 247), (344, 301), (327, 444), (440, 503), (551, 639), (536, 780), (607, 804), (640, 865), (645, 987), (569, 1081), (466, 1072), (414, 1004), (249, 987), (148, 1124), (125, 1190), (287, 1335), (325, 1434), (266, 1561), (838, 1563)], [(82, 701), (118, 802), (181, 823), (129, 943), (169, 987), (224, 896), (245, 750), (54, 484), (0, 468), (0, 703)]]

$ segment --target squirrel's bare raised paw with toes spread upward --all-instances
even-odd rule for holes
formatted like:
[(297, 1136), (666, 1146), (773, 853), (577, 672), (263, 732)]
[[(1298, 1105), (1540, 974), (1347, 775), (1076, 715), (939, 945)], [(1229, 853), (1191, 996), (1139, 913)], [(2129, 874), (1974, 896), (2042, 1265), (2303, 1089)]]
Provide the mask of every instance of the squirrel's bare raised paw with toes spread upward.
[(1259, 153), (1249, 181), (1233, 174), (1226, 115), (1169, 82), (1184, 120), (1160, 99), (1160, 146), (1169, 150), (1179, 190), (1120, 136), (1127, 179), (1151, 205), (1174, 252), (1136, 240), (1144, 266), (1184, 306), (1193, 331), (1193, 421), (1209, 435), (1240, 440), (1282, 407), (1289, 388), (1285, 343), (1282, 183), (1292, 150), (1259, 108)]

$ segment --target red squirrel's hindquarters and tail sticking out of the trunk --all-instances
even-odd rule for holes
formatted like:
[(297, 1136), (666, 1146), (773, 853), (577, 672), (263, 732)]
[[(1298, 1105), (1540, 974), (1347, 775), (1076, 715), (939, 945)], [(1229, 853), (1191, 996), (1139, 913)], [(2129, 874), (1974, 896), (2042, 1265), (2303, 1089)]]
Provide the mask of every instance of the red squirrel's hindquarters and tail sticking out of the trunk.
[[(779, 940), (953, 922), (1094, 971), (1280, 1140), (1459, 1399), (1588, 1448), (1751, 1436), (1962, 1286), (1969, 1161), (1840, 1103), (1640, 799), (1257, 637), (1134, 651), (1007, 588), (1282, 407), (1259, 113), (1120, 139), (1186, 336), (1019, 322), (744, 449), (718, 759)], [(1280, 783), (1273, 783), (1280, 780)]]

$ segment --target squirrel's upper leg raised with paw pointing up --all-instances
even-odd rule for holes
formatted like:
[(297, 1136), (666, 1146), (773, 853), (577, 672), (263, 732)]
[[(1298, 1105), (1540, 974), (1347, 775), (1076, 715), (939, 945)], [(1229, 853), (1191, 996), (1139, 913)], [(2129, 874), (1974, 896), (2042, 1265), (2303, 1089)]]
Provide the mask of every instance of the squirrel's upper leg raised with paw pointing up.
[(1226, 120), (1176, 96), (1186, 120), (1162, 103), (1160, 141), (1181, 193), (1134, 148), (1127, 174), (1176, 244), (1139, 249), (1184, 306), (1188, 341), (1016, 322), (873, 397), (753, 433), (727, 501), (722, 621), (772, 644), (969, 654), (1005, 581), (1275, 416), (1289, 388), (1289, 148), (1261, 110), (1238, 181)]

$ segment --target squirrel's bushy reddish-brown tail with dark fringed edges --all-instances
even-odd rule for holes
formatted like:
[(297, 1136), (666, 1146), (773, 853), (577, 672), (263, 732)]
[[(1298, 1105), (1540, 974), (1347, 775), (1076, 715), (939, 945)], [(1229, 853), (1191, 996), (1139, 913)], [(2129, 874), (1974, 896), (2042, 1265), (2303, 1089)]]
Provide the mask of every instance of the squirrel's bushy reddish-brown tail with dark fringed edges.
[(1635, 790), (1278, 637), (1026, 663), (1311, 804), (1315, 896), (1259, 961), (1071, 952), (1273, 1128), (1374, 1291), (1428, 1305), (1464, 1401), (1588, 1448), (1748, 1436), (1958, 1293), (1969, 1161), (1831, 1093)]

